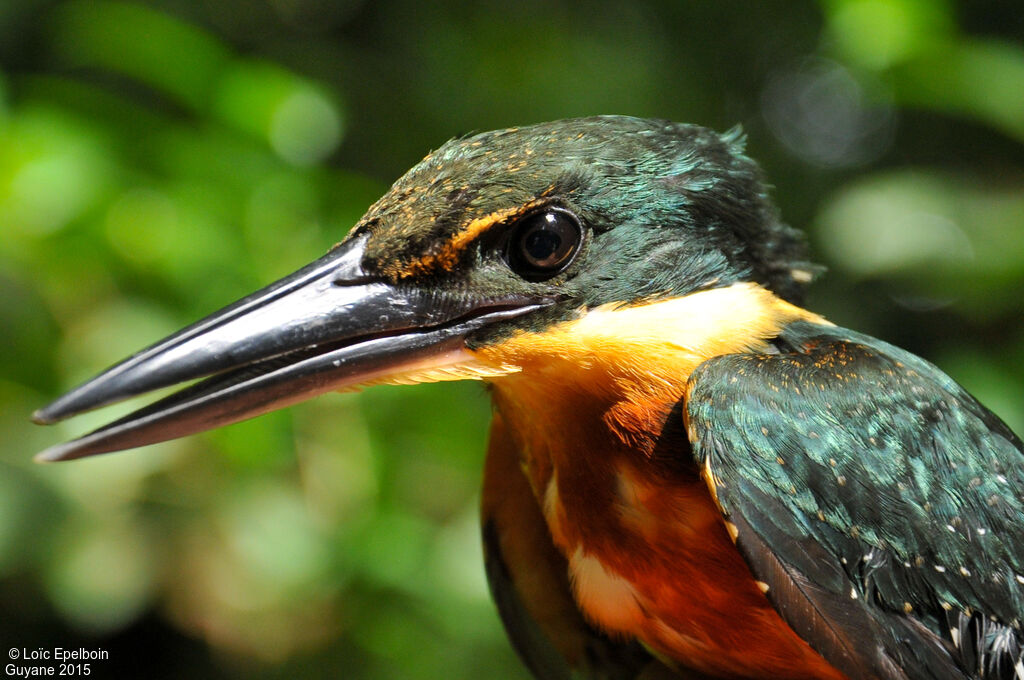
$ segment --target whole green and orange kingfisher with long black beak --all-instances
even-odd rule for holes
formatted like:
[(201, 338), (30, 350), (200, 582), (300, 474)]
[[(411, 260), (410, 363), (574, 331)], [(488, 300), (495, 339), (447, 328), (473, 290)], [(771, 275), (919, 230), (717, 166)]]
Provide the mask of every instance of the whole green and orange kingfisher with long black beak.
[(202, 379), (38, 459), (482, 380), (485, 570), (540, 680), (1024, 680), (1024, 445), (802, 307), (816, 271), (738, 131), (465, 136), (324, 257), (36, 412)]

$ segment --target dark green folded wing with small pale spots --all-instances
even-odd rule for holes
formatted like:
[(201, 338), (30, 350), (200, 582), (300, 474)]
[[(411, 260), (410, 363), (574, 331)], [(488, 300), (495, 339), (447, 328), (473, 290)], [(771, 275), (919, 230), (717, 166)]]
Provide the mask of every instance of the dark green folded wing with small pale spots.
[(693, 452), (779, 613), (851, 678), (1024, 680), (1024, 454), (927, 362), (800, 323), (690, 377)]

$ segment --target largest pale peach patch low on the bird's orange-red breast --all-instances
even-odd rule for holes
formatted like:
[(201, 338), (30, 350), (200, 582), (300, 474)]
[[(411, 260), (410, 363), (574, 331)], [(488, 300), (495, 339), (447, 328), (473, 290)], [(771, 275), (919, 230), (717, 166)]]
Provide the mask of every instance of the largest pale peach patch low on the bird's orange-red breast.
[(612, 631), (633, 630), (645, 619), (636, 588), (605, 568), (597, 557), (577, 548), (569, 559), (577, 600), (587, 615)]

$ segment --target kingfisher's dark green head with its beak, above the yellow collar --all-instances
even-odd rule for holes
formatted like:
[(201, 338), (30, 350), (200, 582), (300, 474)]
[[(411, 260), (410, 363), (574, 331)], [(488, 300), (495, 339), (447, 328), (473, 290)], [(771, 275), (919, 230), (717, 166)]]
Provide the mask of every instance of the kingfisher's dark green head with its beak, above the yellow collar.
[(486, 351), (509, 338), (743, 283), (797, 301), (812, 271), (738, 132), (597, 117), (471, 135), (412, 168), (324, 257), (38, 411), (53, 423), (205, 378), (39, 459), (366, 384), (500, 379), (523, 369)]

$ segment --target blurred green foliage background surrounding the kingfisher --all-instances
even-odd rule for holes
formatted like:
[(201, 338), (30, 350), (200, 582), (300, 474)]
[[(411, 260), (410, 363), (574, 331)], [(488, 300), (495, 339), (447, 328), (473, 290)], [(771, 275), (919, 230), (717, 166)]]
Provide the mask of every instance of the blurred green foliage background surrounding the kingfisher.
[(0, 3), (0, 641), (133, 677), (525, 677), (488, 602), (474, 384), (143, 452), (33, 409), (322, 254), (473, 129), (727, 128), (831, 272), (812, 307), (1024, 430), (1015, 2)]

